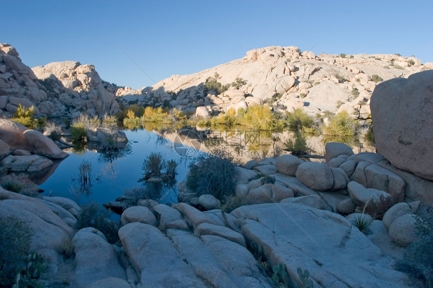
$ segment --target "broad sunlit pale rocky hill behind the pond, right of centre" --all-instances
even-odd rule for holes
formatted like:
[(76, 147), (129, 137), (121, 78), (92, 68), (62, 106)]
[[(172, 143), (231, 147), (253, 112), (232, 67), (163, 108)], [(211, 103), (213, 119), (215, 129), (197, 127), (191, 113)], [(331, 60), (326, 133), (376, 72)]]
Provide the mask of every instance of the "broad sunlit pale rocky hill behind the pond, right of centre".
[[(361, 104), (368, 113), (368, 101), (378, 82), (407, 78), (427, 69), (433, 69), (433, 63), (422, 64), (413, 56), (316, 56), (295, 46), (271, 46), (248, 51), (242, 59), (195, 74), (173, 75), (152, 87), (142, 88), (138, 97), (125, 95), (122, 100), (135, 101), (138, 105), (162, 105), (167, 100), (184, 110), (194, 110), (197, 106), (227, 110), (268, 101), (289, 112), (301, 107), (310, 112), (337, 112), (338, 109), (353, 112)], [(239, 89), (232, 85), (223, 93), (211, 91), (205, 85), (209, 80), (223, 86), (234, 83)]]

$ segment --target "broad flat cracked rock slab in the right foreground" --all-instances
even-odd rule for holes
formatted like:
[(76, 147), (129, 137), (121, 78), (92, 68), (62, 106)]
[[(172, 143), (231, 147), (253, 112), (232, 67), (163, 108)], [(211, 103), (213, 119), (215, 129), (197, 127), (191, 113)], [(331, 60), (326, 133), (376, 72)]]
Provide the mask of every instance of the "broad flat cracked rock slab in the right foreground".
[(406, 276), (393, 270), (393, 260), (342, 216), (278, 205), (243, 206), (232, 214), (243, 219), (241, 233), (248, 244), (271, 265), (285, 265), (293, 286), (302, 287), (297, 273), (302, 268), (315, 287), (405, 287)]

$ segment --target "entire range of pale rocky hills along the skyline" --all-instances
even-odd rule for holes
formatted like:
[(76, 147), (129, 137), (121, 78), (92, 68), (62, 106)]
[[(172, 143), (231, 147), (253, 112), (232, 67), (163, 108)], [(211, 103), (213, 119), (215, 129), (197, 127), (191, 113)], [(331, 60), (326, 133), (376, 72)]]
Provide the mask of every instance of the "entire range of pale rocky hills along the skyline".
[(433, 69), (411, 56), (397, 54), (330, 55), (271, 46), (248, 51), (242, 59), (191, 75), (173, 75), (152, 87), (134, 90), (103, 81), (95, 67), (76, 61), (53, 62), (30, 69), (15, 48), (0, 44), (0, 114), (19, 104), (35, 106), (36, 115), (77, 117), (119, 112), (119, 104), (171, 105), (194, 112), (237, 110), (267, 102), (275, 109), (360, 110), (370, 114), (377, 83)]

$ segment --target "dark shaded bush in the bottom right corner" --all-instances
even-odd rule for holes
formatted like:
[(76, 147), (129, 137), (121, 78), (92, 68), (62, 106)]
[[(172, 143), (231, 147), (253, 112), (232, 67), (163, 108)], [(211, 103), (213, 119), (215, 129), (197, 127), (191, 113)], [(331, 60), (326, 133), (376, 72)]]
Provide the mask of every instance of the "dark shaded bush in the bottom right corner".
[(409, 274), (411, 285), (433, 287), (433, 207), (420, 204), (415, 214), (417, 240), (406, 248), (397, 268)]

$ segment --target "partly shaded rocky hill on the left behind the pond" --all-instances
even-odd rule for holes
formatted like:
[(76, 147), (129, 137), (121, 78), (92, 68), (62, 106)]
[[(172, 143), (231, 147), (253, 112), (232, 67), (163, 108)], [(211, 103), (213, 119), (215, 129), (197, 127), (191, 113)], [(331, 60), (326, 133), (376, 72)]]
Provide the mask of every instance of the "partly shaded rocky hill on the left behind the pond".
[(30, 69), (16, 49), (0, 44), (0, 115), (19, 104), (35, 107), (35, 115), (76, 117), (116, 114), (114, 85), (103, 81), (93, 65), (53, 62)]

